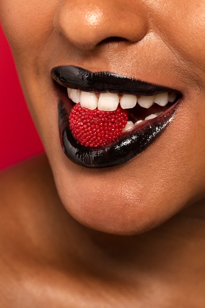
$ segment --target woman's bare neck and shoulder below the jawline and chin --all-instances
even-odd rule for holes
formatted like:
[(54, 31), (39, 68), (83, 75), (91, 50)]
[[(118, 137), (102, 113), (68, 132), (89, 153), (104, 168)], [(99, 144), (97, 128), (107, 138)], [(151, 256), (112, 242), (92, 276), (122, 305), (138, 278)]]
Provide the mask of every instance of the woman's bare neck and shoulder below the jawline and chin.
[(204, 204), (121, 237), (69, 216), (44, 155), (0, 182), (1, 307), (204, 307)]

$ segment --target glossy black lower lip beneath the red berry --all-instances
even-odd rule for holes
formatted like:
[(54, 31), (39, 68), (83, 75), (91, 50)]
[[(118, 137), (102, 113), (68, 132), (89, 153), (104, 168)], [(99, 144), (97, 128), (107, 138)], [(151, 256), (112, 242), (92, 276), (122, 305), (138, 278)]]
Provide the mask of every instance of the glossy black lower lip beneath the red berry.
[(179, 101), (158, 117), (138, 124), (123, 133), (117, 141), (103, 148), (87, 148), (79, 144), (69, 128), (70, 107), (59, 102), (59, 134), (63, 152), (74, 163), (88, 168), (121, 165), (146, 150), (173, 121)]

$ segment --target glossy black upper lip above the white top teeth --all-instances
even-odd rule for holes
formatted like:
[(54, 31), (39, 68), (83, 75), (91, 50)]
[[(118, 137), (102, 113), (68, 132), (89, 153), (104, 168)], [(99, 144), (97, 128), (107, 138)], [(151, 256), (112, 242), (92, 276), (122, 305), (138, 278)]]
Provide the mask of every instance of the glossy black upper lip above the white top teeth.
[(64, 65), (51, 70), (52, 78), (61, 86), (85, 92), (113, 92), (117, 94), (155, 95), (177, 92), (176, 89), (148, 83), (111, 72), (91, 72), (87, 69)]

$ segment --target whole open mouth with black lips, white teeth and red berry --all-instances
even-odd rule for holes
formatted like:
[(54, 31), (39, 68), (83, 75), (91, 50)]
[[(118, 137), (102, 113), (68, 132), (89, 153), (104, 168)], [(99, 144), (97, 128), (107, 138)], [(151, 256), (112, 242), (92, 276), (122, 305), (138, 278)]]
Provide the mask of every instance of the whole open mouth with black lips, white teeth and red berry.
[(72, 65), (54, 67), (51, 76), (60, 85), (63, 152), (88, 168), (117, 166), (146, 150), (173, 121), (182, 97), (176, 89)]

